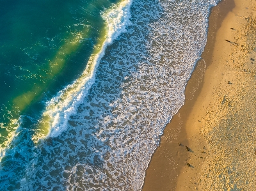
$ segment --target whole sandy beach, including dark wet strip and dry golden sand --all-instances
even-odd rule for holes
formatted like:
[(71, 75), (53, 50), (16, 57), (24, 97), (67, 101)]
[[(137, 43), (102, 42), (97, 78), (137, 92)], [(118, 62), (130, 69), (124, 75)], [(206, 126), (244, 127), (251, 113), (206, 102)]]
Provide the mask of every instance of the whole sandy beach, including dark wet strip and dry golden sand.
[(256, 190), (256, 1), (212, 8), (207, 45), (143, 190)]

